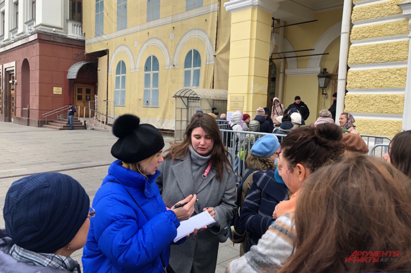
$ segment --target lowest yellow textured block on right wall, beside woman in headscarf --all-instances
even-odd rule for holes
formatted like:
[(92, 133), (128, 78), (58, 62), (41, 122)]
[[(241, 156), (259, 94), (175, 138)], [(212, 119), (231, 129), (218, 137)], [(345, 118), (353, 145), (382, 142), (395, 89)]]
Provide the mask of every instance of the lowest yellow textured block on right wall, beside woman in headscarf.
[(398, 120), (356, 119), (354, 124), (357, 126), (357, 131), (362, 135), (388, 136), (391, 138), (401, 132), (402, 128), (402, 121)]

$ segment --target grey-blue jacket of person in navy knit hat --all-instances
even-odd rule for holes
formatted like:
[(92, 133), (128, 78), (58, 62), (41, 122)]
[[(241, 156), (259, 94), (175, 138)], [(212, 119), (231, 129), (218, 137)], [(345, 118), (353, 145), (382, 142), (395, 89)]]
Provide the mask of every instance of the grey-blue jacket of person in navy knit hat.
[(57, 270), (51, 267), (29, 265), (17, 262), (9, 255), (11, 247), (14, 245), (5, 229), (0, 230), (0, 272), (7, 273), (68, 273), (67, 270)]

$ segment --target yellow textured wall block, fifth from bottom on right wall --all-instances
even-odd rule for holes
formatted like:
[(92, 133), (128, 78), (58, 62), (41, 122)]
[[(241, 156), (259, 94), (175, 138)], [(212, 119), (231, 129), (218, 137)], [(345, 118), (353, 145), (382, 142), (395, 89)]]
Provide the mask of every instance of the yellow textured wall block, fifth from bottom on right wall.
[(351, 41), (389, 37), (393, 35), (408, 34), (408, 20), (389, 23), (374, 24), (362, 27), (354, 27), (351, 30)]

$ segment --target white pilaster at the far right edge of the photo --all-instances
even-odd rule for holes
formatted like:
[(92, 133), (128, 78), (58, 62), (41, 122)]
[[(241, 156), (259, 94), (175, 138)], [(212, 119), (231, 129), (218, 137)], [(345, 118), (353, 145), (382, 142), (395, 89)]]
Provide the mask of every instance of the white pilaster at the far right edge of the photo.
[(407, 64), (407, 83), (405, 85), (405, 98), (404, 98), (404, 113), (402, 116), (402, 130), (411, 130), (411, 2), (406, 1), (398, 5), (402, 8), (402, 14), (409, 20), (408, 21), (408, 64)]

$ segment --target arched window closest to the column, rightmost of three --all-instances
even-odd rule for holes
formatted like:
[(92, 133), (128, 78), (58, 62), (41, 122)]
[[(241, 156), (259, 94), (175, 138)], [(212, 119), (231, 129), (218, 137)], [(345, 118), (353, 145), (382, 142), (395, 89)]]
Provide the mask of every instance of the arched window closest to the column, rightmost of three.
[(158, 107), (158, 69), (156, 56), (148, 57), (144, 64), (143, 107)]

